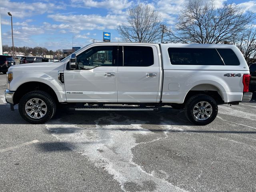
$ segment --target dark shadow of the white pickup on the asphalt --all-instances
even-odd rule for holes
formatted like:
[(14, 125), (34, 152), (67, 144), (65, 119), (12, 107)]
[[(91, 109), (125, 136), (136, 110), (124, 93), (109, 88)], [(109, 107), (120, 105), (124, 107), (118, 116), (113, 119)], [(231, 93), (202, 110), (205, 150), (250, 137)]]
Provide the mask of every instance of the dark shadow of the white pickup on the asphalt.
[[(11, 111), (8, 104), (1, 104), (0, 116), (1, 124), (28, 124), (31, 128), (38, 125), (32, 125), (22, 119), (18, 109)], [(218, 117), (218, 116), (217, 116)], [(111, 120), (110, 120), (111, 119)], [(226, 122), (228, 124), (228, 122)], [(125, 125), (140, 124), (143, 128), (130, 128)], [(46, 124), (54, 125), (54, 128), (48, 128), (48, 133), (52, 134), (70, 134), (79, 131), (81, 128), (95, 128), (97, 130), (121, 130), (142, 132), (193, 132), (193, 133), (233, 133), (233, 134), (256, 134), (256, 131), (246, 131), (244, 128), (234, 130), (234, 128), (223, 125), (223, 122), (216, 118), (214, 122), (206, 126), (196, 126), (190, 123), (182, 110), (176, 110), (170, 107), (161, 108), (158, 112), (138, 112), (138, 111), (80, 111), (68, 114), (66, 110), (59, 109), (55, 116)], [(58, 125), (59, 128), (58, 128)], [(75, 127), (69, 128), (70, 125)], [(111, 127), (110, 125), (120, 125), (120, 128)], [(168, 126), (171, 126), (168, 127)], [(182, 127), (178, 127), (182, 126)], [(176, 128), (182, 129), (176, 129)], [(219, 127), (218, 129), (215, 127)], [(172, 129), (175, 128), (175, 129)], [(222, 128), (222, 129), (220, 129)], [(240, 131), (241, 130), (241, 131)]]

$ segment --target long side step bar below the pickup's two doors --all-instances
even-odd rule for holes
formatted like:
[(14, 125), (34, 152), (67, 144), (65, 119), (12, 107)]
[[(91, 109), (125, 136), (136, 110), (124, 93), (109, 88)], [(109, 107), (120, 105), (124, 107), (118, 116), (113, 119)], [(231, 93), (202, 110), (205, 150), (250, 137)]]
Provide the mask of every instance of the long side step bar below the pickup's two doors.
[(94, 107), (94, 106), (85, 106), (85, 107), (69, 107), (69, 110), (75, 111), (158, 111), (156, 107), (119, 107), (119, 106), (106, 106), (106, 107)]

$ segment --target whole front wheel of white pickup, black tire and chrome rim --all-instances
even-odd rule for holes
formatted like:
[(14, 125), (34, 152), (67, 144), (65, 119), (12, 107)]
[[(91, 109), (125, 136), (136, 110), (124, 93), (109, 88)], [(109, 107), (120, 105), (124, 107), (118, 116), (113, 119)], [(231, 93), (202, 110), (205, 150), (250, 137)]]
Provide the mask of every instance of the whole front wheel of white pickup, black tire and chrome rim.
[(42, 124), (54, 116), (56, 102), (44, 91), (32, 91), (20, 99), (19, 112), (27, 122)]

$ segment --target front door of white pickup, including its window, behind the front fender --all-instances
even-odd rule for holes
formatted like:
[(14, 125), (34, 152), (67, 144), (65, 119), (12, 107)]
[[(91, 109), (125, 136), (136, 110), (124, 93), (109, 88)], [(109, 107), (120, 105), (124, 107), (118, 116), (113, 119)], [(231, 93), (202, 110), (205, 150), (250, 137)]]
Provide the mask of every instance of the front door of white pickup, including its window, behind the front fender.
[(117, 102), (118, 46), (96, 45), (78, 54), (64, 71), (67, 102)]

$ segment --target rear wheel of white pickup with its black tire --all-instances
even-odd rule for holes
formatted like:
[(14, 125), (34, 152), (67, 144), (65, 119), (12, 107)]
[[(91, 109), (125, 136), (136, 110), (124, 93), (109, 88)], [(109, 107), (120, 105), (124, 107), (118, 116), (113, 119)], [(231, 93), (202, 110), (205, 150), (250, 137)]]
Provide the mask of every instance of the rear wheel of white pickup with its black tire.
[[(199, 102), (205, 102), (202, 106), (205, 107), (207, 106), (207, 102), (208, 104), (210, 104), (211, 108), (212, 108), (212, 112), (210, 111), (210, 106), (208, 106), (208, 109), (202, 109), (200, 110), (200, 108), (196, 107), (196, 106), (201, 106), (197, 105), (199, 104)], [(196, 124), (196, 125), (207, 125), (209, 123), (211, 123), (217, 116), (218, 114), (218, 104), (217, 102), (214, 100), (214, 98), (212, 98), (211, 96), (208, 95), (204, 95), (204, 94), (198, 94), (198, 95), (194, 95), (192, 97), (190, 97), (185, 104), (185, 115), (186, 118)], [(194, 111), (198, 111), (198, 113), (194, 114)], [(203, 112), (203, 113), (202, 113)], [(204, 114), (204, 112), (206, 112), (207, 114)], [(200, 113), (202, 113), (203, 115), (201, 115)], [(208, 117), (210, 113), (210, 116)], [(204, 119), (206, 118), (206, 119)]]

